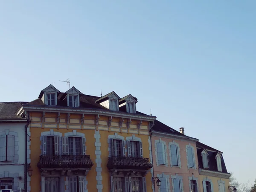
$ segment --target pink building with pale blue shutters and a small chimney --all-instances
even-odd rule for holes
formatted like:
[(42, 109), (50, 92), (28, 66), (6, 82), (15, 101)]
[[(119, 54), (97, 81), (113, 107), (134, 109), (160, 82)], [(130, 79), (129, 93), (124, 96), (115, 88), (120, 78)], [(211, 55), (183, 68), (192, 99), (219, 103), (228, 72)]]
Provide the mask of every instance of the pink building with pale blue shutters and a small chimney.
[(196, 143), (193, 137), (155, 120), (151, 130), (154, 177), (161, 180), (155, 192), (199, 192)]

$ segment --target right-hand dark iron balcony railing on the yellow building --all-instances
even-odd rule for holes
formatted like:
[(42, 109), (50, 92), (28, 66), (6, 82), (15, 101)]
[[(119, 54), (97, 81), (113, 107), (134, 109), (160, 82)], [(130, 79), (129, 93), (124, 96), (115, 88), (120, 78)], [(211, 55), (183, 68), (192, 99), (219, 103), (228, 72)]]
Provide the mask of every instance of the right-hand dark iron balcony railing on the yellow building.
[(149, 170), (152, 164), (148, 158), (141, 157), (108, 157), (108, 169), (137, 169)]

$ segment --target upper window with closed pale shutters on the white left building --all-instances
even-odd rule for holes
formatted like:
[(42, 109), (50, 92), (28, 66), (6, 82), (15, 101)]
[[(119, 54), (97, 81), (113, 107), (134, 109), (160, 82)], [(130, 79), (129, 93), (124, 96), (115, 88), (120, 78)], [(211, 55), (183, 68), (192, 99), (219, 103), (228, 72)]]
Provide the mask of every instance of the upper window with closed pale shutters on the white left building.
[(0, 136), (0, 161), (14, 161), (14, 135)]

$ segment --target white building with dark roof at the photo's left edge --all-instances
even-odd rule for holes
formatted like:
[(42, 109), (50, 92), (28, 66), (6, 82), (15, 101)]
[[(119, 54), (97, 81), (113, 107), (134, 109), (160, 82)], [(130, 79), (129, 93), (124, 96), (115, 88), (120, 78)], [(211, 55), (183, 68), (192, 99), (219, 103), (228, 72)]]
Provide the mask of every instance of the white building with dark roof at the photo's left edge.
[(26, 185), (26, 126), (16, 112), (26, 102), (0, 103), (0, 189), (23, 190)]

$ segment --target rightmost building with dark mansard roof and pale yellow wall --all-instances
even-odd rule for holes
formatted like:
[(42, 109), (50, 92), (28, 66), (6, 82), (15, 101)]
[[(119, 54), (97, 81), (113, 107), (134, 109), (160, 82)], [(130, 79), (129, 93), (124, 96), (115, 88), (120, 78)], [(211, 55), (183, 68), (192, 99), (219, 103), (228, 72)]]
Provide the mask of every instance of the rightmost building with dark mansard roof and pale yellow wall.
[(197, 142), (200, 191), (228, 192), (230, 173), (227, 172), (222, 152)]

